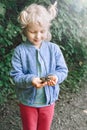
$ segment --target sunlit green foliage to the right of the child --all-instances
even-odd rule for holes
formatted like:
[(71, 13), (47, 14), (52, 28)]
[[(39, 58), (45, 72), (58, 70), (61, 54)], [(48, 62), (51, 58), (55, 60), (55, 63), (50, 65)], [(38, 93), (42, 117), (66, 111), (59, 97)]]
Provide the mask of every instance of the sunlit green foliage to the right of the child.
[(52, 26), (53, 41), (60, 45), (69, 68), (62, 88), (76, 92), (87, 74), (87, 8), (80, 8), (72, 0), (59, 1), (58, 8), (58, 17)]

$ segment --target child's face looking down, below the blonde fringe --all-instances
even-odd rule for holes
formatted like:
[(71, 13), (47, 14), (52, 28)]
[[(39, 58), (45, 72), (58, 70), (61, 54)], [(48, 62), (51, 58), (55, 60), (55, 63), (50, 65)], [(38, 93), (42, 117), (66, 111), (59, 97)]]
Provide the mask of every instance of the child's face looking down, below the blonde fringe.
[(47, 29), (39, 24), (30, 23), (26, 29), (28, 40), (36, 47), (40, 47), (41, 42), (46, 39), (46, 35)]

